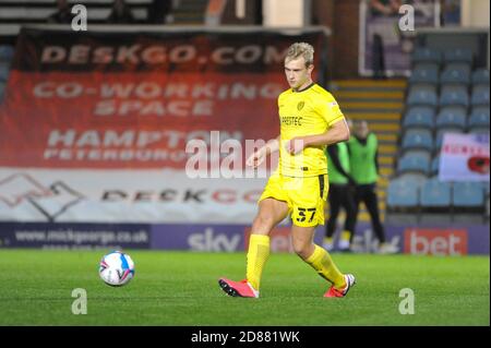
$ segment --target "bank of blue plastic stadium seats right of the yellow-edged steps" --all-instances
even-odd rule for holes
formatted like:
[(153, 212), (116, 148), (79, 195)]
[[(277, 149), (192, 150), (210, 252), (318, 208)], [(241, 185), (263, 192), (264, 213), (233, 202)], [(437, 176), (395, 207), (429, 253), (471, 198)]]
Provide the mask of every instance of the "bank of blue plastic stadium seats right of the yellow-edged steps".
[(387, 212), (422, 213), (418, 221), (432, 220), (439, 215), (434, 213), (441, 213), (440, 218), (450, 212), (486, 214), (489, 182), (441, 182), (438, 175), (445, 133), (489, 134), (489, 70), (474, 67), (478, 60), (469, 49), (417, 47), (411, 59), (400, 157), (387, 187)]

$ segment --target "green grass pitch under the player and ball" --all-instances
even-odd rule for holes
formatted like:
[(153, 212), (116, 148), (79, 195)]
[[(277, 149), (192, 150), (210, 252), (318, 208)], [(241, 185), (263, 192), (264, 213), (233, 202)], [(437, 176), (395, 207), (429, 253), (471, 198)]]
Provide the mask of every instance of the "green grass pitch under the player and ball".
[[(227, 297), (220, 276), (239, 280), (244, 253), (127, 251), (135, 278), (121, 288), (98, 277), (105, 251), (0, 251), (0, 325), (490, 325), (489, 256), (333, 254), (357, 285), (324, 299), (327, 283), (294, 254), (272, 254), (260, 299)], [(87, 314), (71, 311), (72, 290)], [(415, 314), (399, 313), (400, 289)]]

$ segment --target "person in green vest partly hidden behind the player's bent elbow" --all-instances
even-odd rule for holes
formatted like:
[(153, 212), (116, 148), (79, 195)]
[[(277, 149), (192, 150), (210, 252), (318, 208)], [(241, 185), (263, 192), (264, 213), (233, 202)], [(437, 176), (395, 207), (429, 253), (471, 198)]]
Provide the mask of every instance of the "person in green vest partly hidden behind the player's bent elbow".
[[(349, 124), (350, 122), (348, 122)], [(325, 227), (323, 247), (331, 251), (334, 249), (334, 233), (336, 231), (337, 217), (343, 207), (346, 218), (339, 237), (340, 251), (349, 252), (356, 221), (355, 206), (355, 179), (349, 173), (349, 155), (346, 142), (333, 144), (327, 147), (327, 172), (330, 180), (330, 217)]]

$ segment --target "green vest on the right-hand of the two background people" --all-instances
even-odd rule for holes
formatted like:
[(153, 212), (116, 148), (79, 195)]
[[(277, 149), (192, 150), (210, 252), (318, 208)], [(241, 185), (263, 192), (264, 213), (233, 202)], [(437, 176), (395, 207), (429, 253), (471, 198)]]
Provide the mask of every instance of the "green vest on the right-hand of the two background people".
[(375, 156), (379, 146), (376, 136), (370, 133), (367, 144), (363, 146), (355, 136), (348, 142), (349, 168), (351, 177), (357, 184), (375, 183), (379, 179), (376, 173)]

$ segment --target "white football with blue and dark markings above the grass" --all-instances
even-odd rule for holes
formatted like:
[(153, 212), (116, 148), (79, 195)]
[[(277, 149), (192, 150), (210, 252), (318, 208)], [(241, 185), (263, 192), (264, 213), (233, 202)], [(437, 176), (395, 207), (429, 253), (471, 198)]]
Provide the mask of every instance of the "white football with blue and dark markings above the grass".
[(134, 262), (130, 255), (113, 251), (100, 260), (99, 276), (112, 287), (127, 285), (134, 276)]

